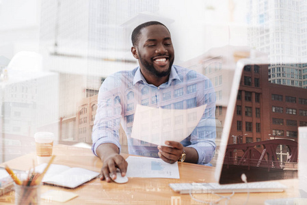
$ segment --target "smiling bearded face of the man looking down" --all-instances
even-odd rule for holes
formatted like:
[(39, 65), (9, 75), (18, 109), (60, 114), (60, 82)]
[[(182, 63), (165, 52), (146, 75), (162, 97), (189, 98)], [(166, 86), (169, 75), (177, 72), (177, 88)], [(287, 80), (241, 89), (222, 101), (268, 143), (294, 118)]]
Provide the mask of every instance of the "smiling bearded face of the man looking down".
[(170, 32), (163, 25), (150, 25), (142, 29), (136, 50), (143, 74), (146, 72), (155, 77), (170, 74), (174, 63), (174, 48)]

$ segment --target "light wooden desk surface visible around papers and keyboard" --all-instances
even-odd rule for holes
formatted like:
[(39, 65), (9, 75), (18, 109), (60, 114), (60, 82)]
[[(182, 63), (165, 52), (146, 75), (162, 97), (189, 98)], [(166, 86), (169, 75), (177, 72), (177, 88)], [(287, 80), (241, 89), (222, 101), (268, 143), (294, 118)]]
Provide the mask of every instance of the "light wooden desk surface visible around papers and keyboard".
[[(100, 172), (102, 163), (98, 157), (92, 154), (90, 149), (76, 148), (72, 146), (57, 145), (53, 154), (57, 157), (53, 163), (68, 165), (70, 167), (83, 167), (95, 172)], [(129, 154), (122, 154), (128, 157)], [(9, 165), (12, 169), (28, 170), (32, 166), (32, 160), (36, 159), (35, 153), (18, 157), (0, 164)], [(42, 186), (41, 193), (50, 189), (58, 189), (77, 193), (79, 196), (65, 204), (199, 204), (191, 200), (189, 195), (181, 195), (170, 189), (170, 183), (182, 182), (214, 182), (214, 167), (194, 165), (191, 163), (178, 163), (180, 179), (165, 178), (129, 178), (126, 184), (107, 183), (98, 178), (77, 187), (65, 189), (50, 185)], [(251, 193), (248, 204), (264, 204), (267, 199), (297, 197), (298, 180), (282, 180), (289, 189), (283, 193)], [(200, 200), (215, 201), (218, 199), (213, 194), (196, 194), (194, 197)], [(244, 204), (246, 193), (235, 193), (228, 204)], [(224, 204), (225, 200), (219, 203)], [(0, 203), (14, 204), (14, 191), (0, 197)], [(44, 202), (41, 204), (62, 204), (56, 202)]]

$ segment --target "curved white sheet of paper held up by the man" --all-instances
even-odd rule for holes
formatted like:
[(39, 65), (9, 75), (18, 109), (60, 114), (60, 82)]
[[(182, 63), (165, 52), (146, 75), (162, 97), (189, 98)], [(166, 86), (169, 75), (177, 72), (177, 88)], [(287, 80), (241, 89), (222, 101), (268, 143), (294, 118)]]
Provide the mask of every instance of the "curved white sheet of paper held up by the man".
[(161, 109), (137, 105), (131, 137), (165, 146), (165, 141), (181, 142), (200, 122), (206, 105), (191, 109)]

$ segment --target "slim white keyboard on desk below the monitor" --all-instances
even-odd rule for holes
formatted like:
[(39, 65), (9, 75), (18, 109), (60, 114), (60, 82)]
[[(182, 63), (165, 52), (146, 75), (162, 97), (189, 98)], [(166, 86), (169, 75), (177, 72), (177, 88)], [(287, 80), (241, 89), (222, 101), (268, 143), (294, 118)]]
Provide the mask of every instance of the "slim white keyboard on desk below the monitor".
[(174, 183), (170, 188), (181, 194), (190, 193), (247, 193), (252, 192), (282, 192), (287, 189), (280, 182), (250, 182), (239, 184), (218, 183)]

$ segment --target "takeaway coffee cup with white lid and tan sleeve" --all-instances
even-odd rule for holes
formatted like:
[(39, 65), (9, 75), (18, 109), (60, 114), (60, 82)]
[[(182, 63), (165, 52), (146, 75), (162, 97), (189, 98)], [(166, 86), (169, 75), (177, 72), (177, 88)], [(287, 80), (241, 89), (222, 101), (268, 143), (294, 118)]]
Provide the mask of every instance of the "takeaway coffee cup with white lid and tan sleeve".
[(34, 134), (36, 142), (36, 156), (38, 164), (48, 163), (51, 159), (54, 134), (49, 132), (39, 132)]

